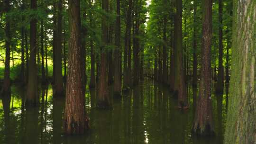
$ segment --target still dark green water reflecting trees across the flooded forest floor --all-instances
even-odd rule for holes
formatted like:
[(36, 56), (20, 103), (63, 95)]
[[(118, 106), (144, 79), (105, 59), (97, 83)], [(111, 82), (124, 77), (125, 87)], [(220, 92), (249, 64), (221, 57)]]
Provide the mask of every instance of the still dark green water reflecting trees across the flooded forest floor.
[[(110, 90), (111, 93), (112, 90)], [(54, 99), (50, 87), (39, 92), (40, 107), (24, 108), (24, 89), (13, 86), (11, 97), (0, 99), (0, 144), (222, 144), (226, 121), (226, 95), (214, 95), (216, 136), (191, 135), (193, 90), (188, 88), (190, 109), (179, 110), (167, 88), (145, 80), (112, 99), (112, 110), (98, 110), (96, 91), (87, 90), (86, 108), (91, 130), (86, 135), (62, 134), (64, 99)]]

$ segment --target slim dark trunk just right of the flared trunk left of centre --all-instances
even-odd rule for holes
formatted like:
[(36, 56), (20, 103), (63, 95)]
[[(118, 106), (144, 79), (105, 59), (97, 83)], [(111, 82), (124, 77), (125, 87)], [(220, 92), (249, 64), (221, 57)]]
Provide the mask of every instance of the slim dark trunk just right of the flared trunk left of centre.
[(122, 81), (120, 79), (120, 34), (121, 34), (121, 20), (120, 20), (120, 0), (117, 0), (117, 19), (116, 19), (116, 37), (115, 37), (115, 74), (114, 74), (114, 95), (121, 97)]

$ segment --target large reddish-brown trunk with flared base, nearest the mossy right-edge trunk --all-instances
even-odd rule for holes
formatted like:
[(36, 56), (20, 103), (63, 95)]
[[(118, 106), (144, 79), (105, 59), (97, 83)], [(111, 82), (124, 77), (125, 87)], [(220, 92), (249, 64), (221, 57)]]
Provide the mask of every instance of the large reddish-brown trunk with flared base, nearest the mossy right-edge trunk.
[(193, 122), (193, 133), (197, 135), (213, 135), (214, 127), (211, 106), (211, 38), (212, 38), (212, 0), (204, 0), (201, 77), (199, 97)]

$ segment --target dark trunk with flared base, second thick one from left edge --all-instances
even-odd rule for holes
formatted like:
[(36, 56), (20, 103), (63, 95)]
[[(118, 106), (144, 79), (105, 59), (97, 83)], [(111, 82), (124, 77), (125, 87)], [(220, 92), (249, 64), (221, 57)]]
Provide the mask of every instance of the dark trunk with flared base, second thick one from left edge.
[[(37, 9), (37, 0), (31, 0), (31, 9)], [(27, 84), (26, 107), (35, 107), (39, 103), (37, 96), (37, 19), (30, 20), (30, 56)]]

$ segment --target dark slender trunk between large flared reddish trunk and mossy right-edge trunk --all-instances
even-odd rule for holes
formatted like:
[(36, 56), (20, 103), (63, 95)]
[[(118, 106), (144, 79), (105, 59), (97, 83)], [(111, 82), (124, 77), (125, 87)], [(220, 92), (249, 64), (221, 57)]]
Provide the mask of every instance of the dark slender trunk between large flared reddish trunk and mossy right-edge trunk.
[(224, 89), (222, 5), (222, 0), (219, 0), (219, 67), (216, 92), (220, 94), (223, 93)]

